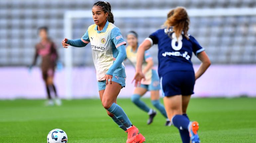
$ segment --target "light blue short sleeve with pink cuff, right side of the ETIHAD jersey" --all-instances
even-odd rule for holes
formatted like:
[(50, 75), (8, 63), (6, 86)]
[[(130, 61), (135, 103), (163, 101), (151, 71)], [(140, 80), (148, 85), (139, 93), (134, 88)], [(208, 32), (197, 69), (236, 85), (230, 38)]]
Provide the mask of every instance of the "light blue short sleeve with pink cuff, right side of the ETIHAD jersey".
[(126, 42), (124, 41), (123, 36), (118, 27), (114, 27), (111, 30), (110, 35), (111, 35), (111, 40), (115, 44), (116, 48), (118, 48), (121, 45), (126, 45)]

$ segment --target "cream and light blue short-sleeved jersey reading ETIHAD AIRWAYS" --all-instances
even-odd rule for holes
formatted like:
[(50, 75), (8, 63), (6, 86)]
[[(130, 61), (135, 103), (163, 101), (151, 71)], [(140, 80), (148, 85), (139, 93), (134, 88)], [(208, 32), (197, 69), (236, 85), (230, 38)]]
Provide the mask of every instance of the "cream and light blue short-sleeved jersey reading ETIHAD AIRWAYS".
[[(122, 34), (118, 27), (113, 23), (106, 22), (101, 31), (97, 30), (97, 25), (93, 24), (88, 27), (86, 33), (81, 40), (84, 43), (91, 42), (92, 57), (96, 68), (96, 76), (98, 81), (105, 80), (105, 74), (113, 65), (118, 55), (117, 48), (121, 45), (126, 45)], [(125, 67), (122, 63), (117, 69), (110, 73), (113, 77), (125, 78)]]

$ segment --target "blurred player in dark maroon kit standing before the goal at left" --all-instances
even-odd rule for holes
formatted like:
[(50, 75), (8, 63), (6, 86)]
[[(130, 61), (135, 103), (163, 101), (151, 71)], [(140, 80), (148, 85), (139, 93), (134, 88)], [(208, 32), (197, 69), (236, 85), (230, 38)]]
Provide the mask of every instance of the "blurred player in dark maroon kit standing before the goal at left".
[(54, 42), (48, 37), (48, 27), (40, 27), (38, 29), (38, 34), (41, 41), (35, 47), (35, 56), (30, 69), (36, 65), (37, 57), (40, 55), (42, 57), (41, 70), (48, 95), (48, 105), (54, 105), (51, 92), (54, 92), (55, 94), (56, 105), (61, 105), (61, 100), (58, 98), (57, 89), (53, 83), (55, 67), (58, 59), (57, 49)]

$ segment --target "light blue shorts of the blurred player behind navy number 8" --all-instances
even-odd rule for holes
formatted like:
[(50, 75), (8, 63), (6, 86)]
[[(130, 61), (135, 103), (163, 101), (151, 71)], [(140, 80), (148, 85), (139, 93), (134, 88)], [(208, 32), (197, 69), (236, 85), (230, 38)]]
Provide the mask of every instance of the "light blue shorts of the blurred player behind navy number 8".
[(160, 90), (160, 79), (159, 76), (157, 74), (156, 70), (152, 69), (152, 79), (151, 79), (151, 84), (150, 85), (140, 85), (141, 88), (147, 89), (148, 91), (151, 90)]

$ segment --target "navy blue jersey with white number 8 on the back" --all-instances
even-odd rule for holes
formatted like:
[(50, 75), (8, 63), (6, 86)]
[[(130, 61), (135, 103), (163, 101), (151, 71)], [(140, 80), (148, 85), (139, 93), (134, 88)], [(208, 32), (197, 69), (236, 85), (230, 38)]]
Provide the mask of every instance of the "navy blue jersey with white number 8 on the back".
[(150, 36), (152, 44), (158, 44), (158, 74), (162, 77), (170, 71), (193, 71), (192, 52), (197, 55), (204, 51), (194, 37), (189, 40), (182, 34), (177, 40), (173, 29), (159, 29)]

